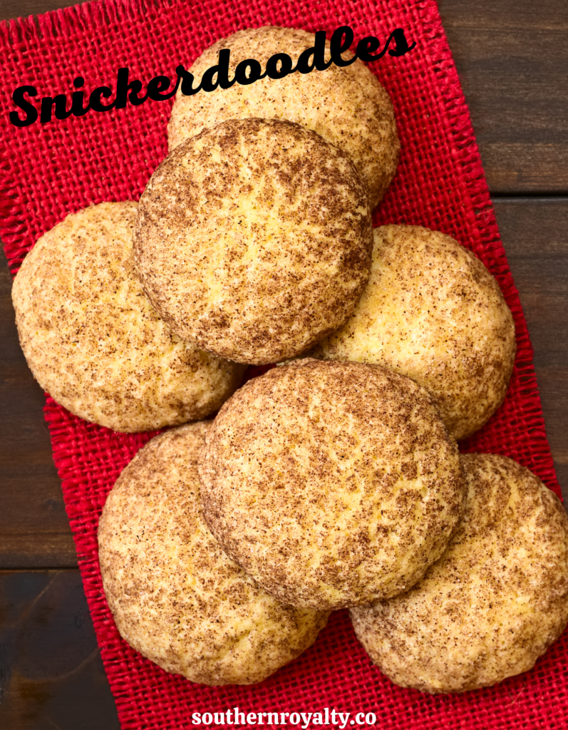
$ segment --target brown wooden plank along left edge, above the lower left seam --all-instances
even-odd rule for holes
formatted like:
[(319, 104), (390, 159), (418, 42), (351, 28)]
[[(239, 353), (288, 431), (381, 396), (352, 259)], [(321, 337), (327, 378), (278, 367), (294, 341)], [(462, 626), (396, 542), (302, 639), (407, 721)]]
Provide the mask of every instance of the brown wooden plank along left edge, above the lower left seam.
[(0, 266), (0, 567), (77, 566), (45, 396), (18, 341), (4, 253)]

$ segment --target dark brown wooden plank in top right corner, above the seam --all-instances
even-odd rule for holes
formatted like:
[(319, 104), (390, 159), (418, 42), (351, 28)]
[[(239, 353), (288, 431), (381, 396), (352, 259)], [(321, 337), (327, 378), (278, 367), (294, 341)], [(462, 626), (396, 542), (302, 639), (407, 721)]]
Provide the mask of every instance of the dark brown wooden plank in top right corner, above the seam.
[(440, 0), (492, 194), (568, 191), (563, 0)]

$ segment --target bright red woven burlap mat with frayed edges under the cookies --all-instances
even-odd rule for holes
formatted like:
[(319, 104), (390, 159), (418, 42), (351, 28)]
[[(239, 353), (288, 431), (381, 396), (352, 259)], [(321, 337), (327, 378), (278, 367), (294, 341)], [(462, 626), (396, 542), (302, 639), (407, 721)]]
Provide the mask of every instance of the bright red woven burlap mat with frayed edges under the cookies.
[[(44, 15), (39, 26), (30, 21), (3, 23), (0, 234), (12, 272), (36, 239), (69, 212), (101, 201), (138, 199), (166, 155), (172, 104), (146, 101), (140, 107), (129, 104), (120, 111), (16, 128), (8, 123), (7, 112), (14, 109), (10, 97), (17, 86), (34, 85), (39, 97), (55, 96), (73, 91), (72, 80), (81, 75), (90, 92), (99, 85), (114, 85), (120, 66), (128, 66), (131, 79), (145, 83), (158, 74), (174, 77), (177, 64), (191, 63), (218, 37), (266, 23), (310, 32), (345, 24), (353, 27), (356, 40), (376, 35), (383, 42), (391, 30), (402, 27), (408, 42), (416, 42), (407, 55), (385, 55), (373, 66), (391, 93), (402, 140), (399, 171), (375, 214), (375, 224), (417, 223), (445, 231), (474, 250), (495, 274), (515, 316), (517, 362), (504, 406), (463, 448), (511, 456), (560, 493), (529, 335), (456, 69), (431, 0), (156, 0), (143, 5), (97, 1)], [(376, 726), (404, 730), (568, 726), (568, 634), (531, 672), (461, 696), (423, 696), (393, 685), (356, 642), (346, 612), (332, 615), (310, 650), (260, 685), (207, 688), (166, 675), (118, 636), (101, 590), (96, 555), (96, 526), (105, 496), (151, 434), (114, 434), (74, 418), (49, 398), (45, 415), (85, 593), (123, 728), (186, 729), (193, 712), (233, 707), (288, 713), (335, 708), (351, 713), (347, 726), (353, 726), (357, 712), (372, 712)], [(296, 715), (287, 723), (305, 726)]]

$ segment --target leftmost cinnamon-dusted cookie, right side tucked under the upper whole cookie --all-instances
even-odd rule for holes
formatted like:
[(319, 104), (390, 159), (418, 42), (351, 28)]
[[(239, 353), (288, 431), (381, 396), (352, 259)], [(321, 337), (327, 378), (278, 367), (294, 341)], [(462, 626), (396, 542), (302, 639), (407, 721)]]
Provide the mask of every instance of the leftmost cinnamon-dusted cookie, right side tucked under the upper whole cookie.
[(12, 300), (34, 377), (75, 415), (115, 431), (204, 418), (231, 395), (242, 366), (172, 334), (132, 270), (137, 204), (68, 215), (28, 253)]

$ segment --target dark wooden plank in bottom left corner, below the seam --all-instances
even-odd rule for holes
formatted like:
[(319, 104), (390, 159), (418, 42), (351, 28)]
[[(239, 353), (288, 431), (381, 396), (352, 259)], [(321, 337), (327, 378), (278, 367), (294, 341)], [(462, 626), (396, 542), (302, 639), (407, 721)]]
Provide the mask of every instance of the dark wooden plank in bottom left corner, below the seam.
[(120, 728), (79, 571), (0, 572), (0, 648), (0, 728)]

